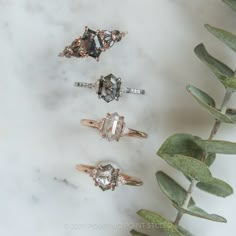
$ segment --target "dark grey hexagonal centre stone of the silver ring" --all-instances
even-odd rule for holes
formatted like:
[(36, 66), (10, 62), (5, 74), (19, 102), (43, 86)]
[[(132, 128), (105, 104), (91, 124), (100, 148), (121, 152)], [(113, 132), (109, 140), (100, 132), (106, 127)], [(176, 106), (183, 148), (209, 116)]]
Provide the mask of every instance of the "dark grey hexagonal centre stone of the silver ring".
[(120, 97), (121, 79), (116, 78), (113, 74), (101, 77), (99, 81), (98, 96), (106, 102), (118, 100)]

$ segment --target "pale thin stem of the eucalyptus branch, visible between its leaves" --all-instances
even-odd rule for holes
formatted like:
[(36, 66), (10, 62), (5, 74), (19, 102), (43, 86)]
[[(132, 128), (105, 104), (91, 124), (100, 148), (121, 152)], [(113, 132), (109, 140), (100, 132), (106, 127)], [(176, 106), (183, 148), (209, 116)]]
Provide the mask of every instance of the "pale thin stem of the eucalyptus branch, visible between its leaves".
[[(232, 95), (232, 90), (226, 89), (224, 100), (223, 100), (221, 108), (220, 108), (220, 111), (221, 111), (222, 114), (226, 113), (227, 105), (228, 105), (228, 102), (230, 100), (231, 95)], [(218, 132), (218, 130), (220, 128), (220, 125), (221, 125), (221, 121), (216, 120), (215, 124), (214, 124), (214, 126), (213, 126), (213, 128), (211, 130), (211, 133), (210, 133), (210, 136), (209, 136), (208, 140), (212, 140), (214, 138), (214, 136), (216, 135), (216, 133)], [(206, 160), (206, 154), (203, 155), (202, 160), (203, 161)], [(186, 198), (184, 200), (182, 208), (187, 208), (188, 207), (189, 202), (190, 202), (191, 197), (192, 197), (193, 190), (194, 190), (197, 182), (198, 181), (196, 181), (194, 179), (191, 180), (191, 183), (189, 185), (189, 188), (188, 188), (188, 191), (187, 191), (187, 195), (186, 195)], [(182, 219), (182, 217), (183, 217), (183, 213), (179, 211), (177, 216), (176, 216), (176, 218), (175, 218), (174, 224), (175, 225), (179, 225), (179, 222)]]

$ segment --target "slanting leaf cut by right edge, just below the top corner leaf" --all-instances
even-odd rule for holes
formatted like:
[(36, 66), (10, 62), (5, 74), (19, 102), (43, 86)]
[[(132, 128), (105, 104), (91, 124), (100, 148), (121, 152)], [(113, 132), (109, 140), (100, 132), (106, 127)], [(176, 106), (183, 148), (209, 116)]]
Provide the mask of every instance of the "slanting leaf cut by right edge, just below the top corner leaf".
[(225, 43), (230, 49), (236, 52), (236, 36), (228, 31), (210, 25), (205, 25), (206, 29), (216, 38)]

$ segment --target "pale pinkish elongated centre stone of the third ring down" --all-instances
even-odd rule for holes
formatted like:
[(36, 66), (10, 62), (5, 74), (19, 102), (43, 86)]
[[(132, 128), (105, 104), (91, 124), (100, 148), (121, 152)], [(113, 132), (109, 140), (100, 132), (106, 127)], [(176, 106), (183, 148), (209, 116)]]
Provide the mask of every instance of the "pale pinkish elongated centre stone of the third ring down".
[(109, 141), (119, 140), (124, 126), (124, 117), (118, 113), (108, 114), (105, 118), (102, 133)]

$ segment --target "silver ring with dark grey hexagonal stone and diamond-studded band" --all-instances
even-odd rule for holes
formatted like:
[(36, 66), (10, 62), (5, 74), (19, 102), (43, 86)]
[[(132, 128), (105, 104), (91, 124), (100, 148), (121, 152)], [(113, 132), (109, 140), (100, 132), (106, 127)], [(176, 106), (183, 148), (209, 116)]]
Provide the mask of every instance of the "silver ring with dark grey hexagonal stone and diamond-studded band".
[(121, 78), (115, 77), (113, 74), (101, 76), (95, 83), (75, 82), (75, 87), (83, 87), (96, 90), (99, 98), (106, 102), (113, 100), (118, 101), (119, 97), (124, 93), (145, 94), (143, 89), (126, 88), (122, 86)]

